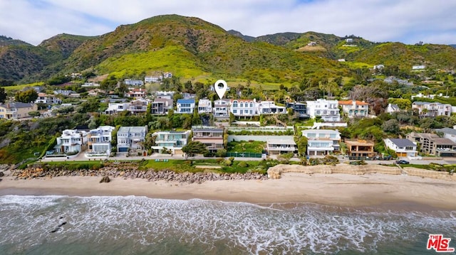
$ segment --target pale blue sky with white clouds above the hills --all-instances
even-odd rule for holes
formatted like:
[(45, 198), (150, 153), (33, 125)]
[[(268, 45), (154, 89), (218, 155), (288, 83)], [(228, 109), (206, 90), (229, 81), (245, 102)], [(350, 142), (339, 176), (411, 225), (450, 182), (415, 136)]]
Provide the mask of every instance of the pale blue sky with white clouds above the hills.
[(0, 35), (38, 45), (59, 33), (99, 36), (162, 14), (195, 16), (248, 36), (316, 31), (456, 43), (455, 0), (1, 0)]

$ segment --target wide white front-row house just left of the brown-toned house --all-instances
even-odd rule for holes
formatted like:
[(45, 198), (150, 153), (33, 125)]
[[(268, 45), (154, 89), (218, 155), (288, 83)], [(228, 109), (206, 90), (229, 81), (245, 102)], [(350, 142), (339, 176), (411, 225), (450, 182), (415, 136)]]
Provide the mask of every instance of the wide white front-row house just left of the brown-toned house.
[(163, 148), (166, 148), (172, 154), (183, 154), (182, 147), (187, 145), (190, 137), (190, 130), (187, 131), (158, 131), (152, 134), (157, 136), (155, 146), (152, 150), (157, 153), (162, 153)]

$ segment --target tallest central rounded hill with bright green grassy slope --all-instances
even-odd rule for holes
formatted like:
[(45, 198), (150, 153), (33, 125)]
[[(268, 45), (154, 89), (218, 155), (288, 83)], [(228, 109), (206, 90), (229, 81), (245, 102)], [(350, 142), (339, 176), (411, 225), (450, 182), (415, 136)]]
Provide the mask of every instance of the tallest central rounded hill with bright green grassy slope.
[(67, 66), (73, 71), (95, 66), (99, 74), (116, 77), (161, 70), (183, 78), (209, 75), (286, 84), (315, 72), (345, 72), (331, 60), (248, 43), (199, 18), (176, 15), (148, 18), (88, 40), (68, 58)]

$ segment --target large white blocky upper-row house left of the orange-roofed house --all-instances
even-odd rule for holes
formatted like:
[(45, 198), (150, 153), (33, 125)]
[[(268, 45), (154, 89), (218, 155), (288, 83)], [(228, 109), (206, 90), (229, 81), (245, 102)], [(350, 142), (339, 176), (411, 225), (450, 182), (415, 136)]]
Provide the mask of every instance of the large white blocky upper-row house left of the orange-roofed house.
[(316, 99), (316, 101), (307, 101), (306, 104), (307, 114), (309, 114), (311, 118), (321, 116), (323, 121), (341, 121), (337, 100)]

